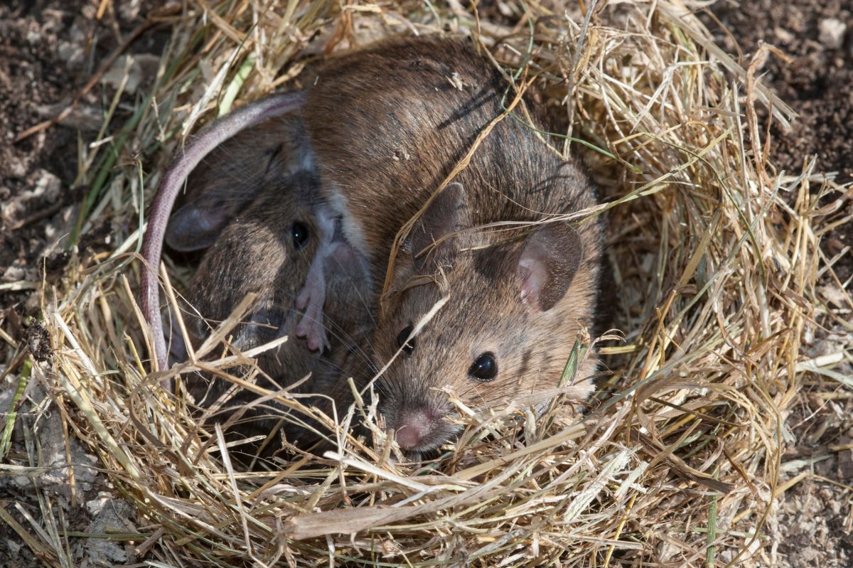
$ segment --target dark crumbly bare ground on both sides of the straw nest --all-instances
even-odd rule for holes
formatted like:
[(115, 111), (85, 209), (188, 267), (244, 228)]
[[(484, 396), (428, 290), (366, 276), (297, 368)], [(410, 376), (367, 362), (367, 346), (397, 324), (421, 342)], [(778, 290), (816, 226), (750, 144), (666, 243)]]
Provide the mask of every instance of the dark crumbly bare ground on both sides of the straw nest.
[[(17, 322), (32, 315), (38, 305), (20, 281), (37, 281), (39, 268), (48, 277), (61, 272), (69, 258), (61, 237), (76, 220), (75, 206), (81, 200), (84, 183), (78, 183), (78, 161), (84, 154), (84, 140), (94, 137), (101, 126), (102, 108), (108, 104), (101, 84), (82, 98), (62, 125), (50, 127), (13, 143), (21, 132), (55, 115), (67, 106), (101, 61), (139, 26), (154, 2), (107, 3), (120, 5), (118, 13), (109, 9), (97, 19), (99, 3), (80, 4), (73, 0), (12, 0), (0, 4), (0, 322)], [(783, 61), (772, 55), (763, 67), (763, 81), (794, 107), (800, 118), (791, 132), (771, 129), (771, 158), (777, 167), (798, 172), (803, 159), (818, 155), (816, 171), (837, 172), (836, 181), (853, 179), (853, 6), (847, 0), (757, 0), (717, 2), (705, 14), (705, 23), (717, 41), (748, 65), (750, 55), (761, 42), (771, 43), (791, 57)], [(716, 21), (715, 21), (716, 20)], [(731, 33), (722, 31), (722, 24)], [(846, 25), (846, 26), (845, 26)], [(166, 28), (153, 27), (131, 44), (129, 51), (157, 56)], [(737, 44), (735, 44), (735, 42)], [(126, 101), (132, 106), (135, 95)], [(121, 113), (130, 112), (119, 108)], [(117, 118), (121, 120), (121, 116)], [(849, 206), (850, 207), (850, 206)], [(853, 213), (853, 210), (848, 212)], [(96, 246), (89, 235), (81, 247)], [(832, 258), (853, 246), (853, 223), (841, 225), (826, 235), (822, 246)], [(45, 263), (43, 264), (43, 259)], [(842, 282), (853, 277), (853, 254), (836, 264)], [(847, 283), (848, 290), (850, 283)], [(17, 329), (26, 339), (23, 326)], [(38, 333), (29, 333), (29, 339)], [(850, 350), (850, 332), (843, 327), (817, 333), (809, 356)], [(9, 346), (4, 346), (7, 351)], [(6, 353), (4, 353), (6, 356)], [(853, 368), (848, 369), (853, 374)], [(9, 384), (0, 385), (9, 393)], [(10, 393), (9, 393), (10, 394)], [(0, 396), (0, 408), (9, 401)], [(38, 395), (35, 395), (38, 396)], [(778, 524), (769, 534), (778, 544), (780, 565), (853, 565), (853, 538), (850, 490), (843, 485), (853, 478), (853, 397), (837, 383), (811, 379), (804, 385), (787, 426), (792, 442), (782, 461), (786, 464), (782, 483), (803, 478), (779, 501)], [(45, 447), (57, 426), (46, 422), (37, 432), (44, 435)], [(19, 429), (20, 431), (20, 429)], [(22, 439), (15, 439), (10, 455), (22, 457)], [(64, 456), (64, 448), (61, 450)], [(73, 460), (85, 464), (90, 456), (78, 447), (70, 449)], [(55, 507), (72, 521), (74, 529), (103, 532), (131, 516), (124, 501), (104, 501), (103, 481), (86, 477), (87, 468), (78, 468), (79, 495), (71, 500), (65, 478), (45, 478), (55, 486)], [(28, 497), (26, 478), (0, 477), (0, 504), (21, 525), (29, 527), (20, 509), (38, 517), (36, 501)], [(20, 508), (11, 506), (17, 502)], [(121, 522), (119, 522), (121, 521)], [(29, 530), (29, 529), (28, 529)], [(97, 552), (107, 541), (74, 545), (77, 558), (96, 558), (123, 563), (129, 558), (121, 545)], [(89, 547), (89, 548), (87, 548)], [(0, 523), (0, 565), (41, 565), (15, 531)]]

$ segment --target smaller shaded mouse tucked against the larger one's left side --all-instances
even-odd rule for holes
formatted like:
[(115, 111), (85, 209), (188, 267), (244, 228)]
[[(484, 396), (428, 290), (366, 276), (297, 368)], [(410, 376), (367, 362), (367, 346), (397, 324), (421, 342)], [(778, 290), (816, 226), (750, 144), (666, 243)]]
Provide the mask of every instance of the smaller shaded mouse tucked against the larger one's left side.
[[(288, 385), (293, 394), (307, 397), (305, 405), (315, 405), (331, 413), (331, 405), (345, 404), (346, 389), (337, 385), (339, 365), (345, 354), (354, 351), (359, 338), (366, 332), (370, 314), (363, 289), (363, 272), (353, 262), (348, 246), (339, 242), (324, 267), (328, 286), (328, 304), (324, 327), (331, 341), (323, 351), (311, 351), (304, 341), (296, 338), (294, 328), (299, 310), (294, 306), (299, 287), (305, 282), (311, 258), (320, 241), (321, 230), (313, 221), (311, 200), (316, 196), (319, 179), (311, 171), (299, 170), (281, 176), (278, 183), (269, 183), (254, 196), (247, 206), (235, 214), (219, 230), (204, 252), (191, 281), (187, 295), (188, 308), (184, 322), (189, 339), (195, 348), (233, 310), (247, 294), (257, 299), (241, 322), (230, 332), (229, 343), (240, 351), (264, 345), (287, 335), (287, 341), (257, 357), (257, 383), (270, 391)], [(216, 186), (214, 186), (216, 189)], [(190, 203), (200, 210), (209, 210), (208, 200), (219, 200), (216, 191), (201, 192)], [(174, 334), (175, 339), (180, 334)], [(183, 340), (173, 340), (171, 355), (177, 360), (186, 358)], [(242, 369), (243, 374), (251, 370)], [(234, 374), (235, 369), (230, 369)], [(241, 370), (236, 371), (239, 376)], [(302, 380), (305, 379), (305, 380)], [(300, 381), (301, 380), (301, 381)], [(195, 373), (185, 377), (187, 391), (202, 409), (220, 404), (219, 399), (232, 383), (216, 374)], [(340, 391), (340, 392), (338, 392)], [(288, 410), (276, 402), (250, 406), (258, 395), (236, 389), (233, 396), (218, 410), (215, 420), (223, 421), (238, 409), (239, 425), (229, 438), (251, 438), (273, 432)], [(246, 410), (247, 409), (247, 410)], [(314, 421), (285, 421), (281, 430), (288, 443), (305, 447), (319, 437), (320, 428)], [(276, 449), (273, 443), (270, 449)]]

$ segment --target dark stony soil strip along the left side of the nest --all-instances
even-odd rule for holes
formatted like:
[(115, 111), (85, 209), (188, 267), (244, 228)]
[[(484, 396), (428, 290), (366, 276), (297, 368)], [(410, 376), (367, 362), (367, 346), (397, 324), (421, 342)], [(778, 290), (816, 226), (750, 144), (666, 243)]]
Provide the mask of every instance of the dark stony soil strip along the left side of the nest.
[[(64, 250), (65, 237), (76, 221), (86, 184), (85, 180), (75, 184), (78, 155), (96, 138), (102, 109), (115, 92), (108, 73), (107, 80), (84, 96), (61, 125), (14, 141), (24, 130), (67, 107), (102, 61), (159, 3), (105, 3), (108, 9), (100, 20), (99, 4), (78, 0), (0, 3), (0, 323), (14, 339), (29, 345), (37, 365), (49, 364), (49, 340), (44, 327), (38, 323), (26, 327), (20, 318), (38, 312), (32, 288), (41, 275), (49, 279), (61, 275), (72, 258)], [(152, 28), (128, 52), (159, 57), (165, 37), (167, 29)], [(123, 97), (126, 107), (119, 107), (115, 125), (125, 121), (144, 88), (141, 84), (136, 94), (129, 90)], [(91, 237), (89, 242), (94, 242)], [(86, 246), (83, 241), (81, 249)], [(2, 372), (12, 351), (5, 342), (0, 345)], [(16, 387), (15, 373), (0, 379), (0, 409), (9, 408)], [(132, 507), (110, 493), (107, 478), (94, 469), (96, 458), (73, 437), (66, 446), (61, 413), (47, 412), (35, 420), (38, 405), (50, 408), (38, 380), (30, 381), (23, 400), (5, 462), (31, 465), (25, 447), (37, 443), (43, 464), (54, 469), (38, 476), (0, 476), (0, 507), (20, 527), (15, 530), (0, 522), (0, 565), (59, 565), (50, 552), (43, 562), (24, 544), (19, 530), (29, 535), (35, 530), (28, 519), (40, 522), (61, 516), (65, 528), (88, 534), (134, 532)], [(75, 464), (73, 483), (69, 463)], [(49, 501), (39, 500), (37, 489)], [(134, 559), (132, 547), (122, 541), (69, 537), (63, 542), (76, 566), (126, 565)]]

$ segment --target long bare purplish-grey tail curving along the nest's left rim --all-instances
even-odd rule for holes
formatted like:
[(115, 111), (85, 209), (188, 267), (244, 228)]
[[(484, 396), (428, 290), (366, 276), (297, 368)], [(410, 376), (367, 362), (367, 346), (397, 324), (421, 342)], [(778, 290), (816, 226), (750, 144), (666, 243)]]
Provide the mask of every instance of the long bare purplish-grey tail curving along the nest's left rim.
[(171, 208), (177, 194), (196, 165), (210, 154), (222, 142), (235, 136), (241, 130), (258, 125), (264, 120), (273, 119), (282, 114), (291, 113), (305, 103), (301, 91), (281, 93), (260, 99), (238, 108), (232, 113), (206, 126), (193, 136), (183, 148), (182, 154), (172, 162), (165, 172), (160, 188), (154, 198), (148, 215), (148, 229), (142, 241), (142, 279), (140, 281), (140, 301), (142, 315), (145, 316), (154, 335), (154, 356), (160, 370), (166, 368), (168, 351), (160, 320), (160, 290), (157, 286), (157, 270), (160, 266), (160, 254), (163, 252), (165, 227), (169, 222)]

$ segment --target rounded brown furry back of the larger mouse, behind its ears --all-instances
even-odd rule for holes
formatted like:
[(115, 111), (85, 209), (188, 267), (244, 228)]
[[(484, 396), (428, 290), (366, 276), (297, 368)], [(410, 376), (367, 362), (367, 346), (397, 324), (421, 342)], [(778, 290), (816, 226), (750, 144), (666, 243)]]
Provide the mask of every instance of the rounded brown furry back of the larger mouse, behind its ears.
[[(368, 252), (375, 270), (384, 268), (402, 224), (513, 97), (506, 79), (465, 39), (403, 38), (321, 69), (308, 91), (306, 129), (324, 190), (350, 212), (347, 237)], [(531, 114), (537, 120), (535, 108)], [(572, 191), (551, 193), (549, 179), (569, 175), (562, 170), (531, 125), (507, 118), (454, 181), (475, 204), (475, 224), (535, 221), (595, 203), (582, 173)]]

